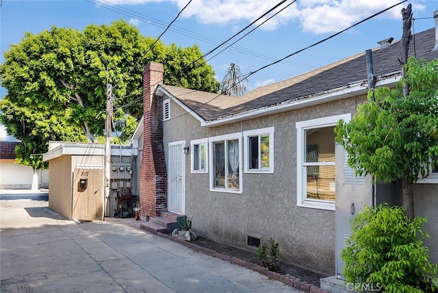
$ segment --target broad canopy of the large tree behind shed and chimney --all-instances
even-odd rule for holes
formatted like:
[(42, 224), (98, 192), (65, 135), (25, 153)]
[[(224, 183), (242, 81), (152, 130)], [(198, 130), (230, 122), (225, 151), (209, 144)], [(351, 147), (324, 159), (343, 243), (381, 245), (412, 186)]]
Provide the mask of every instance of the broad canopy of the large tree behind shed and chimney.
[(164, 84), (218, 92), (220, 84), (194, 45), (181, 49), (140, 34), (123, 20), (88, 25), (83, 31), (51, 27), (26, 33), (5, 51), (0, 64), (0, 122), (23, 142), (17, 162), (42, 168), (49, 140), (90, 141), (103, 136), (106, 84), (112, 84), (114, 121), (130, 138), (142, 115), (142, 69), (164, 64)]

